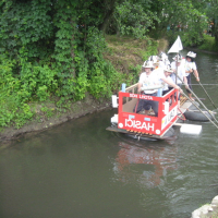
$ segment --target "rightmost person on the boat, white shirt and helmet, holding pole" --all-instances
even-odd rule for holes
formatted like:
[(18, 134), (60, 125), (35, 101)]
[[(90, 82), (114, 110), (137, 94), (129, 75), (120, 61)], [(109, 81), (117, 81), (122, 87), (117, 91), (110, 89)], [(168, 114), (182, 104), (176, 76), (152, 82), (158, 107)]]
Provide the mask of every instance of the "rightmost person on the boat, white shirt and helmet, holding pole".
[[(192, 89), (192, 81), (191, 81), (191, 73), (192, 72), (194, 73), (196, 81), (199, 82), (199, 75), (198, 75), (198, 72), (197, 72), (197, 66), (196, 66), (196, 63), (194, 62), (195, 58), (196, 58), (196, 53), (194, 53), (193, 51), (189, 51), (186, 57), (185, 57), (185, 76), (186, 76), (186, 80), (187, 80), (189, 88), (191, 90), (193, 90)], [(186, 92), (187, 92), (189, 97), (193, 100), (192, 93), (187, 88), (186, 88)]]

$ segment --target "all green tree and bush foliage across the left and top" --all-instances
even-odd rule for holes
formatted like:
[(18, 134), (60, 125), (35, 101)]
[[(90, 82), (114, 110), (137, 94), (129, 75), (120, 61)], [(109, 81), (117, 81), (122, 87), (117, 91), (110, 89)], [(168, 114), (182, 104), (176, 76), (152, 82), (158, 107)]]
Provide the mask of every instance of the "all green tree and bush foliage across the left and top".
[(184, 41), (196, 45), (206, 15), (216, 23), (216, 14), (215, 0), (0, 0), (0, 105), (8, 102), (0, 125), (24, 124), (34, 116), (29, 102), (109, 97), (131, 81), (104, 59), (105, 33), (174, 40), (180, 25)]

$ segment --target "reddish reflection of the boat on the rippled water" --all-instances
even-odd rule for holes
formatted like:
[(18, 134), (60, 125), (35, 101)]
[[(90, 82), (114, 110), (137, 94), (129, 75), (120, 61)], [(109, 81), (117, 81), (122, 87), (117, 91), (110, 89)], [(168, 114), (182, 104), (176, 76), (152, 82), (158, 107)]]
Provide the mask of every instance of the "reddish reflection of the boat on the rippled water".
[(119, 143), (113, 171), (124, 183), (141, 186), (164, 185), (167, 172), (178, 168), (174, 146), (142, 146), (125, 142)]

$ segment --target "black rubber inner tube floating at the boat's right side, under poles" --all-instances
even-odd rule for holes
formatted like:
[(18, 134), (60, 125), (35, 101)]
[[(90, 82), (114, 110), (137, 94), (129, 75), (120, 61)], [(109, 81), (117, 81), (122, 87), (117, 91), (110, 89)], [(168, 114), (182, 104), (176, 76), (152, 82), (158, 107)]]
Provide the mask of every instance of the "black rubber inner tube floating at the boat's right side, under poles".
[[(210, 120), (214, 120), (214, 117), (207, 112), (207, 111), (203, 111)], [(211, 112), (213, 113), (213, 112)], [(209, 119), (204, 116), (201, 111), (185, 111), (184, 112), (184, 117), (187, 120), (192, 120), (192, 121), (201, 121), (201, 122), (207, 122), (209, 121)]]

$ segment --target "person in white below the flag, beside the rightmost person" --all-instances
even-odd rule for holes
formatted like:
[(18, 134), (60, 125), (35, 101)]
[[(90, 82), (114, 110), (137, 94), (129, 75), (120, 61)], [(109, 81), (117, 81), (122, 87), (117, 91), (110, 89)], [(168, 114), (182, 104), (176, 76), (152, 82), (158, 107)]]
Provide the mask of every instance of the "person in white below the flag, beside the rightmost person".
[[(184, 84), (186, 84), (185, 87), (187, 87), (187, 80), (186, 80), (186, 76), (185, 76), (185, 68), (184, 68), (184, 64), (182, 63), (183, 57), (180, 56), (180, 55), (177, 55), (173, 58), (173, 60), (174, 61), (171, 63), (171, 68), (173, 70), (173, 73), (171, 74), (171, 78), (172, 78), (173, 83), (177, 84), (179, 87), (181, 87), (182, 83), (184, 83)], [(179, 105), (179, 108), (180, 108), (180, 94), (179, 94), (179, 97), (178, 97), (178, 105)]]

